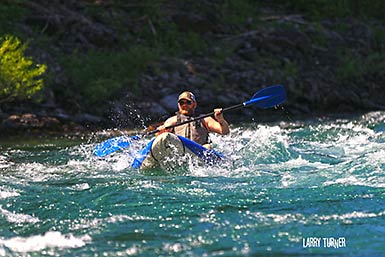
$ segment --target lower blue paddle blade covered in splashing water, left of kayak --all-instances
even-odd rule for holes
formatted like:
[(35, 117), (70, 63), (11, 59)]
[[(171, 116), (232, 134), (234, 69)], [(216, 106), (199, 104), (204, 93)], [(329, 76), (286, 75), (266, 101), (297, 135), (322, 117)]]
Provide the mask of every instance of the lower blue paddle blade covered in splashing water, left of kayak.
[(110, 138), (95, 146), (94, 155), (104, 157), (110, 153), (129, 147), (133, 140), (138, 140), (140, 138), (141, 136), (120, 136)]

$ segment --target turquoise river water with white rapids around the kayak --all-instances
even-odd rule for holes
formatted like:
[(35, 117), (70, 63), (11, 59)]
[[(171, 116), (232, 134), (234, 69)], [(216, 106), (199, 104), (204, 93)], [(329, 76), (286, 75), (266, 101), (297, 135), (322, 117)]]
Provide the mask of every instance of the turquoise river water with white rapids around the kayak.
[(98, 135), (3, 140), (0, 256), (384, 256), (384, 120), (233, 126), (229, 161), (173, 176)]

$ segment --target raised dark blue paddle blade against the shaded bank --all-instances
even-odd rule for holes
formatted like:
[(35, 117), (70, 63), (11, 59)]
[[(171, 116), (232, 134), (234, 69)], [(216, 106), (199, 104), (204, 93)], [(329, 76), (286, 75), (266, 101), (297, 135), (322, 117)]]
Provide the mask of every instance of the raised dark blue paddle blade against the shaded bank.
[(249, 101), (244, 102), (243, 105), (254, 104), (259, 108), (266, 109), (281, 104), (285, 100), (285, 88), (282, 85), (274, 85), (258, 91)]

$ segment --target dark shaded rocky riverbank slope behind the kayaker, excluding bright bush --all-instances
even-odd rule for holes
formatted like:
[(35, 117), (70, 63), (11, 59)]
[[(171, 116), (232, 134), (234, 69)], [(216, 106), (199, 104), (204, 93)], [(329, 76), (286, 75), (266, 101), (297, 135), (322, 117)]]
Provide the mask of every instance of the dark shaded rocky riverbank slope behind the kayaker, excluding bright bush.
[(383, 20), (333, 4), (315, 16), (317, 4), (10, 2), (20, 16), (0, 29), (28, 41), (48, 73), (39, 101), (0, 104), (0, 133), (144, 129), (172, 115), (183, 90), (209, 113), (274, 84), (287, 91), (283, 110), (229, 121), (385, 110)]

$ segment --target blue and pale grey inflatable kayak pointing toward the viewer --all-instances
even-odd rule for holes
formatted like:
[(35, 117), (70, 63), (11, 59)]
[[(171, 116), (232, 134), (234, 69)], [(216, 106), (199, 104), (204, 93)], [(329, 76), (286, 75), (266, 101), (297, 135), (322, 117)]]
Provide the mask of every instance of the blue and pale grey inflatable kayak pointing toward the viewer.
[(224, 156), (215, 150), (166, 132), (152, 139), (137, 153), (132, 167), (141, 170), (155, 168), (173, 170), (185, 166), (190, 160), (197, 161), (199, 164), (213, 165), (223, 159)]

